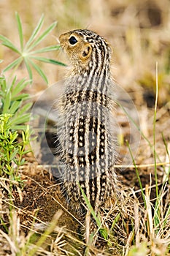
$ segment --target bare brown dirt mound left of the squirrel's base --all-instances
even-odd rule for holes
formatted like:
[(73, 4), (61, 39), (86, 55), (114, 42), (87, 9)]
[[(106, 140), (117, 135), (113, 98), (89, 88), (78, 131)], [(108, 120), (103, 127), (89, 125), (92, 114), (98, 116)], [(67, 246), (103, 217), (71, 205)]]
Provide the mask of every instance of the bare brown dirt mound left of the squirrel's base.
[[(63, 210), (58, 225), (66, 226), (69, 230), (75, 230), (77, 223), (64, 211), (66, 200), (61, 194), (60, 185), (56, 183), (53, 176), (36, 164), (26, 166), (22, 172), (22, 178), (25, 180), (25, 187), (22, 192), (22, 201), (18, 194), (15, 195), (15, 206), (20, 208), (18, 214), (20, 222), (24, 226), (24, 232), (28, 233), (29, 228), (34, 222), (47, 224), (53, 219), (58, 209)], [(63, 207), (62, 207), (63, 206)]]

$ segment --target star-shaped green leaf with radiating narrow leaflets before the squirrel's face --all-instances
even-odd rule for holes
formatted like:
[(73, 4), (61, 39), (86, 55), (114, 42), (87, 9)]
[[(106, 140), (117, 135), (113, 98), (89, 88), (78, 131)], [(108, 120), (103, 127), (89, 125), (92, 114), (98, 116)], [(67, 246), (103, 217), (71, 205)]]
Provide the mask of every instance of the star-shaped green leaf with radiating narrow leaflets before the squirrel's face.
[(28, 75), (30, 80), (32, 80), (32, 71), (31, 67), (33, 67), (36, 72), (39, 73), (39, 75), (42, 77), (43, 80), (45, 80), (46, 83), (48, 83), (47, 76), (45, 75), (45, 72), (34, 62), (36, 61), (42, 61), (50, 64), (57, 64), (61, 66), (65, 66), (65, 64), (55, 61), (54, 59), (48, 59), (42, 56), (37, 56), (39, 53), (47, 53), (53, 50), (58, 50), (60, 48), (60, 45), (50, 45), (45, 48), (38, 48), (34, 49), (39, 45), (40, 42), (42, 42), (45, 37), (52, 31), (57, 22), (52, 23), (50, 26), (45, 29), (45, 31), (42, 32), (42, 34), (39, 35), (40, 30), (42, 29), (42, 25), (44, 23), (44, 15), (41, 16), (39, 19), (39, 22), (36, 25), (36, 28), (31, 34), (31, 37), (26, 42), (26, 45), (24, 45), (24, 39), (23, 39), (23, 28), (22, 23), (20, 20), (20, 16), (18, 15), (18, 12), (15, 13), (15, 17), (17, 20), (18, 25), (18, 34), (20, 38), (20, 48), (16, 47), (7, 37), (4, 37), (3, 35), (0, 35), (0, 40), (2, 42), (2, 45), (6, 46), (7, 48), (11, 49), (15, 53), (19, 55), (18, 59), (15, 59), (15, 61), (12, 61), (3, 72), (6, 72), (9, 69), (13, 69), (13, 72), (15, 72), (16, 69), (22, 64), (23, 62), (26, 64), (26, 69), (28, 70)]

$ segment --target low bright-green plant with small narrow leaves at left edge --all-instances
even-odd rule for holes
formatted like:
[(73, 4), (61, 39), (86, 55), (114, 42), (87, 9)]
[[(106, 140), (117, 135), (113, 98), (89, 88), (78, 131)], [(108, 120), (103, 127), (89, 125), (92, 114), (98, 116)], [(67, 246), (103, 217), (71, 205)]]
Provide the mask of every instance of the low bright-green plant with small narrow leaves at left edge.
[(18, 141), (18, 132), (11, 131), (11, 118), (10, 114), (0, 115), (0, 176), (22, 183), (18, 170), (26, 162), (23, 156), (30, 151), (30, 134), (27, 127), (21, 133), (21, 141)]

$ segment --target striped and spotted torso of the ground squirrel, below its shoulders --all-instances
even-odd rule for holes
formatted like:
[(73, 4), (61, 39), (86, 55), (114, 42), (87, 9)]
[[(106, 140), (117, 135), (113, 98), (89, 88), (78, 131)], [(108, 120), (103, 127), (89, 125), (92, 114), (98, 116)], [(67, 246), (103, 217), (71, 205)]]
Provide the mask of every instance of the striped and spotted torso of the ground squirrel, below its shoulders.
[(115, 147), (109, 122), (110, 110), (106, 96), (101, 101), (100, 94), (97, 101), (97, 94), (96, 98), (93, 94), (90, 98), (85, 94), (84, 100), (80, 100), (80, 94), (74, 95), (65, 101), (58, 132), (63, 151), (63, 184), (73, 205), (84, 202), (79, 183), (91, 205), (97, 208), (112, 190)]

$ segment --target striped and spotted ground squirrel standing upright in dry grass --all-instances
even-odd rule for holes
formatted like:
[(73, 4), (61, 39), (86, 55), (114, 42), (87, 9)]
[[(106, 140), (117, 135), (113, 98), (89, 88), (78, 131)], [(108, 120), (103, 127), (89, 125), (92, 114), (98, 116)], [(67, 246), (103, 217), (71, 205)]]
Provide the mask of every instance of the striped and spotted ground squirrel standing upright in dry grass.
[(66, 90), (58, 103), (63, 187), (70, 205), (86, 211), (79, 182), (98, 213), (117, 184), (111, 48), (103, 37), (87, 29), (61, 34), (59, 41), (71, 61)]

